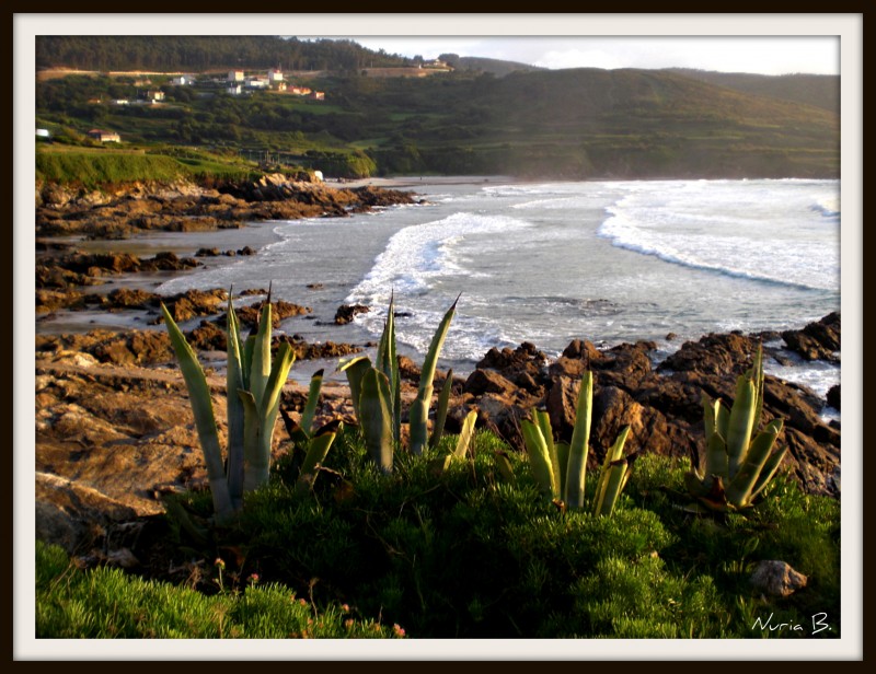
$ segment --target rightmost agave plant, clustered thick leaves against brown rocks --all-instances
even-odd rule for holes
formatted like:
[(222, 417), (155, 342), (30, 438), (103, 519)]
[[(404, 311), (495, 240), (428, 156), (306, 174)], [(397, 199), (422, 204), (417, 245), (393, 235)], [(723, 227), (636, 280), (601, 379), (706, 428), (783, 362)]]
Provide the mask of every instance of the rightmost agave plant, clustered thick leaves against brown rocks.
[(762, 348), (758, 347), (752, 367), (737, 379), (729, 412), (719, 399), (705, 394), (702, 399), (705, 472), (694, 469), (685, 475), (688, 490), (712, 510), (750, 508), (787, 453), (787, 446), (774, 449), (782, 419), (773, 419), (757, 432), (763, 411)]

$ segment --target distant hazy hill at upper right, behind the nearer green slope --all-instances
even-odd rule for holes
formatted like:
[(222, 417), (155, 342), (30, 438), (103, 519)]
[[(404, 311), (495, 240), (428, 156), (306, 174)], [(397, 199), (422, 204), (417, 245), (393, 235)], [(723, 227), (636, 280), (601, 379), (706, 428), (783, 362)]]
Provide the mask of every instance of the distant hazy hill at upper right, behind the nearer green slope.
[(840, 77), (830, 74), (751, 74), (745, 72), (713, 72), (689, 68), (669, 68), (684, 77), (726, 86), (747, 94), (770, 96), (782, 101), (805, 103), (839, 114)]

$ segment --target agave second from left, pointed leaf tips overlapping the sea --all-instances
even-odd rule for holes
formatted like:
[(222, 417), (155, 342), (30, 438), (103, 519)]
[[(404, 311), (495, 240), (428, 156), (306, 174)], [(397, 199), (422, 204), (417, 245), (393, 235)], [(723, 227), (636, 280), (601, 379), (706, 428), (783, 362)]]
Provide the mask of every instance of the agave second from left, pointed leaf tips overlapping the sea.
[[(443, 346), (450, 323), (457, 311), (457, 302), (441, 318), (438, 329), (433, 336), (431, 344), (423, 363), (419, 375), (417, 396), (408, 410), (408, 425), (411, 431), (411, 453), (419, 455), (427, 445), (434, 446), (440, 439), (440, 426), (447, 416), (447, 402), (439, 400), (439, 415), (436, 419), (433, 437), (429, 438), (429, 406), (434, 391), (435, 371), (438, 364), (438, 355)], [(401, 445), (402, 425), (402, 394), (401, 379), (399, 375), (399, 359), (395, 346), (395, 301), (390, 299), (387, 323), (377, 351), (377, 361), (371, 363), (368, 356), (358, 356), (343, 362), (339, 371), (346, 372), (349, 383), (353, 408), (359, 426), (365, 435), (371, 460), (384, 473), (392, 472), (393, 452)], [(449, 386), (446, 386), (449, 395)], [(443, 399), (445, 395), (440, 396)], [(441, 416), (443, 409), (443, 417)]]

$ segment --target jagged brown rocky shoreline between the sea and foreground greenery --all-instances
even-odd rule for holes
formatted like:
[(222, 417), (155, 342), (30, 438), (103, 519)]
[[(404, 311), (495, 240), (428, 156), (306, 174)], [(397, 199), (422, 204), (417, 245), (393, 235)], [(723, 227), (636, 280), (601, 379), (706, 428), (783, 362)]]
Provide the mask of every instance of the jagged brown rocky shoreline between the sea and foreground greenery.
[[(193, 257), (159, 254), (138, 258), (129, 254), (77, 252), (68, 247), (69, 242), (56, 236), (132, 236), (157, 226), (185, 228), (191, 223), (204, 226), (209, 221), (210, 226), (221, 229), (242, 226), (245, 220), (261, 217), (289, 218), (288, 213), (299, 208), (292, 206), (288, 196), (283, 197), (289, 185), (280, 181), (269, 184), (270, 187), (266, 184), (254, 188), (256, 191), (241, 193), (245, 198), (231, 191), (204, 189), (199, 194), (172, 196), (164, 194), (166, 186), (162, 188), (164, 193), (140, 186), (91, 206), (88, 204), (94, 200), (91, 197), (67, 199), (51, 190), (38, 190), (38, 314), (80, 309), (138, 312), (158, 327), (159, 304), (163, 301), (177, 321), (187, 324), (186, 332), (195, 348), (203, 356), (214, 355), (221, 367), (228, 300), (224, 290), (160, 298), (143, 289), (107, 286), (104, 281), (143, 269), (184, 271), (203, 264), (205, 258), (246, 255), (245, 249), (204, 248)], [(338, 214), (356, 208), (416, 202), (411, 193), (376, 188), (357, 191), (300, 186), (296, 189), (300, 189), (297, 194), (323, 196), (337, 193), (331, 198), (324, 196), (334, 206), (320, 211), (322, 214), (332, 213), (332, 209), (336, 210), (333, 214)], [(256, 193), (262, 195), (262, 201), (255, 200)], [(370, 199), (373, 202), (369, 205)], [(173, 206), (153, 211), (150, 210), (153, 202)], [(110, 214), (111, 211), (115, 214)], [(255, 211), (262, 216), (253, 217)], [(242, 294), (235, 292), (235, 306)], [(246, 301), (251, 303), (240, 305), (244, 323), (254, 321), (265, 294), (266, 289), (247, 292), (252, 297)], [(307, 315), (310, 311), (289, 302), (275, 302), (274, 310), (279, 317)], [(292, 344), (299, 359), (333, 359), (369, 346), (309, 345), (293, 335), (276, 336), (275, 346), (283, 339)], [(731, 399), (736, 376), (750, 365), (758, 345), (765, 345), (768, 357), (782, 359), (783, 350), (770, 346), (780, 342), (806, 360), (839, 362), (840, 315), (831, 314), (782, 334), (707, 335), (685, 342), (657, 365), (654, 364), (656, 345), (648, 341), (598, 349), (589, 341), (575, 340), (553, 361), (532, 344), (516, 349), (492, 349), (471, 374), (450, 382), (447, 430), (458, 431), (469, 410), (476, 409), (479, 427), (494, 430), (519, 450), (520, 420), (539, 407), (548, 410), (558, 434), (566, 435), (570, 433), (581, 373), (590, 370), (595, 374), (592, 467), (625, 425), (632, 427), (627, 440), (631, 450), (688, 457), (699, 463), (703, 445), (702, 393)], [(162, 493), (206, 488), (204, 461), (185, 385), (166, 333), (151, 328), (41, 334), (35, 346), (36, 535), (76, 555), (91, 554), (104, 560), (112, 560), (115, 555), (123, 566), (136, 565), (136, 559), (126, 558), (124, 563), (120, 560), (131, 549), (136, 550), (130, 538), (139, 535), (145, 521), (162, 512)], [(406, 393), (413, 395), (417, 367), (406, 358), (402, 358), (401, 365)], [(300, 376), (296, 368), (291, 376)], [(209, 381), (214, 407), (223, 428), (224, 377), (210, 372)], [(436, 392), (446, 384), (446, 373), (439, 372)], [(287, 384), (283, 408), (288, 414), (301, 410), (306, 386), (307, 382)], [(766, 376), (764, 420), (785, 419), (780, 441), (787, 443), (789, 452), (784, 467), (805, 491), (835, 498), (841, 495), (840, 425), (827, 422), (821, 411), (828, 404), (839, 409), (839, 386), (825, 400), (804, 386)], [(323, 422), (351, 421), (353, 407), (346, 386), (326, 382), (318, 414)], [(287, 441), (281, 430), (277, 432), (275, 451), (285, 451)]]

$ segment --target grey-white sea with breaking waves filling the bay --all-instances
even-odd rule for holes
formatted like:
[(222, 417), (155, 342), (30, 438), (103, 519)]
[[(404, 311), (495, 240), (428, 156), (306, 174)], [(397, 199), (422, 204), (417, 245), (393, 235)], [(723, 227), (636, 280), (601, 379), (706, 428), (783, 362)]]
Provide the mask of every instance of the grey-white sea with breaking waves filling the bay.
[[(459, 298), (439, 367), (462, 375), (523, 341), (554, 358), (576, 338), (653, 340), (659, 361), (712, 332), (802, 328), (840, 310), (840, 181), (406, 184), (420, 204), (262, 223), (273, 240), (257, 255), (158, 292), (270, 284), (313, 309), (281, 330), (351, 344), (379, 339), (392, 298), (400, 351), (416, 362)], [(337, 326), (342, 304), (370, 311)], [(765, 368), (821, 396), (840, 381), (838, 365), (791, 353)]]

